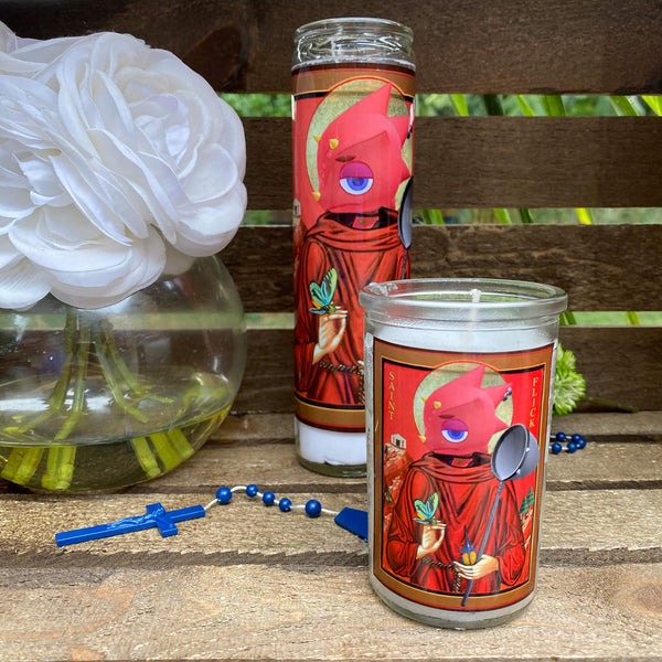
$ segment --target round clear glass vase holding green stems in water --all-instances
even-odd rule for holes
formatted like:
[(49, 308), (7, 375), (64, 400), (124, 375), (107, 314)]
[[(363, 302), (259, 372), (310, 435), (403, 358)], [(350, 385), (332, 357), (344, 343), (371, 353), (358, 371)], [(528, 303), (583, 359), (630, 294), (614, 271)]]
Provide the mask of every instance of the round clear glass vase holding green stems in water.
[(221, 425), (245, 363), (242, 301), (216, 257), (97, 310), (0, 309), (0, 477), (77, 492), (161, 476)]

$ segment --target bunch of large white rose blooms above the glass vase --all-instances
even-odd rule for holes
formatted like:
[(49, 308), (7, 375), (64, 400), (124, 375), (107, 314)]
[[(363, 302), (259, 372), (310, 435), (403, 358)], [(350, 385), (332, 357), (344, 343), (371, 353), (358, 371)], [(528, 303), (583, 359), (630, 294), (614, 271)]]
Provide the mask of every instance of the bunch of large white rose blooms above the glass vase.
[(244, 132), (203, 78), (114, 33), (18, 44), (7, 57), (1, 307), (44, 288), (106, 306), (156, 280), (167, 256), (181, 265), (232, 239), (246, 207)]

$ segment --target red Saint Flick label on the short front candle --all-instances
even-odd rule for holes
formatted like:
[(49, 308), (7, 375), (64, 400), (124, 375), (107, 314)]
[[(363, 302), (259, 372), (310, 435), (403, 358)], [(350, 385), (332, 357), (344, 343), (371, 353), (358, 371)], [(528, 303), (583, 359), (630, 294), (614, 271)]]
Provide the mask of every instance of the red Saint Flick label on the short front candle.
[(374, 340), (373, 572), (384, 586), (468, 611), (533, 590), (553, 352)]

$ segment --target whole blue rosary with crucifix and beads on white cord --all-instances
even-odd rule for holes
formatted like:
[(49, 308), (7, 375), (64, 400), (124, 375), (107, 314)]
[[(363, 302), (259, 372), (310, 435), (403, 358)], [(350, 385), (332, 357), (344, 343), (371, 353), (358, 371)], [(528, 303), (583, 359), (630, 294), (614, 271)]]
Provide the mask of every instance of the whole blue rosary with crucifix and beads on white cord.
[[(568, 439), (566, 434), (556, 433), (552, 439), (553, 442), (549, 445), (549, 451), (554, 455), (558, 455), (564, 450), (564, 444), (565, 450), (570, 453), (586, 447), (586, 439), (577, 434), (572, 435)], [(367, 512), (353, 508), (343, 508), (340, 512), (328, 510), (322, 508), (322, 504), (317, 499), (309, 499), (305, 504), (292, 504), (291, 500), (287, 496), (277, 499), (274, 492), (260, 492), (256, 484), (250, 483), (234, 488), (218, 488), (215, 499), (205, 506), (191, 505), (189, 508), (168, 511), (160, 503), (150, 503), (146, 506), (147, 512), (143, 515), (124, 517), (110, 524), (99, 524), (97, 526), (56, 533), (55, 543), (61, 547), (131, 533), (134, 531), (143, 531), (146, 528), (158, 528), (161, 537), (169, 537), (179, 533), (177, 527), (178, 522), (204, 517), (212, 506), (227, 505), (235, 492), (245, 492), (250, 499), (258, 496), (265, 506), (273, 506), (277, 503), (278, 510), (284, 513), (302, 510), (311, 519), (319, 517), (321, 514), (332, 515), (335, 524), (367, 542)]]

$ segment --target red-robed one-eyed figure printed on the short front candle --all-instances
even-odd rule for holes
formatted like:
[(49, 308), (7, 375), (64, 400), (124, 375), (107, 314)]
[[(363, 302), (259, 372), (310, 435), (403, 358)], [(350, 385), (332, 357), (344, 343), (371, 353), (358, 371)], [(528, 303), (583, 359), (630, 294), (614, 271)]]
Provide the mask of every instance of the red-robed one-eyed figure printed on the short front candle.
[[(471, 595), (491, 594), (515, 586), (524, 567), (526, 548), (511, 481), (501, 493), (484, 553), (470, 563), (499, 488), (488, 444), (508, 427), (494, 410), (509, 385), (481, 388), (484, 369), (479, 365), (426, 399), (429, 452), (409, 466), (386, 536), (387, 567), (427, 590), (463, 594), (473, 580)], [(425, 522), (421, 504), (437, 505)]]

